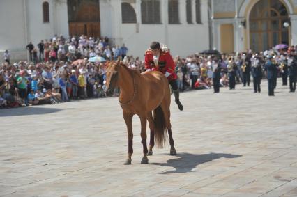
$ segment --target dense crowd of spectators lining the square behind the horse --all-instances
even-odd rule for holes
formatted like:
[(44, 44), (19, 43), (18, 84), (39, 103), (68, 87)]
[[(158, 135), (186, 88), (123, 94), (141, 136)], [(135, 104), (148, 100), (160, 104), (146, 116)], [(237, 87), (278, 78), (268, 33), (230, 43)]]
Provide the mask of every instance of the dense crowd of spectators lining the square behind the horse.
[[(35, 47), (31, 42), (26, 46), (30, 61), (10, 63), (8, 51), (0, 65), (0, 107), (19, 107), (36, 104), (56, 104), (70, 100), (105, 97), (105, 61), (90, 62), (89, 58), (100, 56), (107, 61), (119, 56), (129, 68), (144, 71), (144, 61), (128, 56), (125, 45), (110, 45), (108, 38), (87, 38), (80, 36), (66, 39), (54, 36), (41, 40)], [(220, 72), (220, 86), (229, 86), (230, 63), (237, 68), (236, 84), (245, 85), (250, 76), (244, 76), (245, 63), (251, 66), (264, 65), (268, 56), (282, 65), (287, 59), (286, 51), (273, 49), (240, 54), (192, 54), (186, 58), (174, 57), (178, 88), (181, 91), (212, 88), (213, 72)], [(234, 70), (233, 70), (234, 71)], [(280, 68), (279, 74), (282, 74)], [(117, 96), (118, 92), (114, 93)]]

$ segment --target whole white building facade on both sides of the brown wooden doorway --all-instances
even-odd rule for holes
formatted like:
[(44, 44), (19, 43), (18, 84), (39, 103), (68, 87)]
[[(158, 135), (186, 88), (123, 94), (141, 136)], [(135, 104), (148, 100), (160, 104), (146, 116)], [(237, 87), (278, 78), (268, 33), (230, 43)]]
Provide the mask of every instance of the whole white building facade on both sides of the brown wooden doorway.
[[(88, 1), (94, 0), (80, 2)], [(48, 5), (47, 10), (44, 3)], [(70, 3), (67, 0), (1, 0), (0, 24), (6, 27), (0, 29), (1, 58), (8, 49), (11, 59), (26, 59), (25, 47), (30, 41), (36, 46), (40, 40), (55, 34), (66, 38), (73, 34), (68, 24)], [(142, 58), (154, 40), (167, 45), (173, 55), (186, 56), (209, 47), (208, 0), (100, 0), (99, 5), (100, 36), (107, 36), (115, 45), (125, 43), (128, 54)], [(44, 21), (45, 11), (49, 21)], [(134, 12), (135, 20), (125, 21), (122, 11)], [(150, 20), (151, 12), (158, 15), (158, 19)], [(147, 21), (143, 21), (144, 13)]]

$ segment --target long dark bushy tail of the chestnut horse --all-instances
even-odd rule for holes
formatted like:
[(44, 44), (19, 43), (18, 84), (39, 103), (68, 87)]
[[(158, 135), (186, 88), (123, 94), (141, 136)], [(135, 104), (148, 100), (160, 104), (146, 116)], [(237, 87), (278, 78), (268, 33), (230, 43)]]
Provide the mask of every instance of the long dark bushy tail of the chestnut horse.
[(164, 113), (160, 105), (153, 111), (153, 122), (155, 123), (155, 143), (158, 148), (163, 148), (166, 141), (167, 129), (165, 126)]

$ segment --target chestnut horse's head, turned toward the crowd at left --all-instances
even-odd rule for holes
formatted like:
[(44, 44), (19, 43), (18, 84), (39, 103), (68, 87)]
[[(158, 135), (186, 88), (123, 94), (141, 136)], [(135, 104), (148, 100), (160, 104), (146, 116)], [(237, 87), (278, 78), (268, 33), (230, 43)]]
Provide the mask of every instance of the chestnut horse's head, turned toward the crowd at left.
[(118, 87), (119, 72), (118, 68), (120, 66), (120, 60), (111, 61), (107, 64), (106, 69), (106, 89), (105, 93), (110, 96), (114, 93), (114, 88)]

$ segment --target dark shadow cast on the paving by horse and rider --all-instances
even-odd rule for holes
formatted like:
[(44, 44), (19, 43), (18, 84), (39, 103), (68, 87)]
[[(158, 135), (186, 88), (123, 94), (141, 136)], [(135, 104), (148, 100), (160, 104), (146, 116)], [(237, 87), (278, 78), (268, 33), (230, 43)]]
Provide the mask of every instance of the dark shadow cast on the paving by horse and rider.
[(224, 154), (224, 153), (208, 153), (208, 154), (189, 154), (189, 153), (180, 153), (176, 155), (178, 158), (169, 159), (166, 164), (160, 163), (151, 163), (151, 165), (158, 166), (168, 166), (173, 167), (175, 170), (166, 171), (160, 174), (169, 174), (169, 173), (188, 173), (192, 171), (192, 169), (196, 168), (199, 164), (204, 164), (206, 162), (213, 161), (214, 159), (219, 159), (221, 157), (224, 158), (236, 158), (241, 157), (241, 155), (232, 155), (232, 154)]

